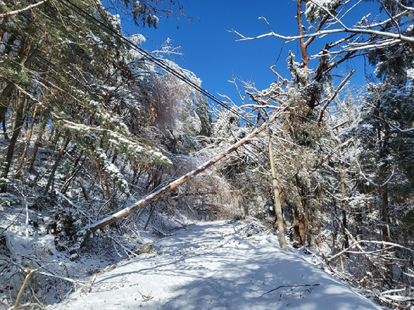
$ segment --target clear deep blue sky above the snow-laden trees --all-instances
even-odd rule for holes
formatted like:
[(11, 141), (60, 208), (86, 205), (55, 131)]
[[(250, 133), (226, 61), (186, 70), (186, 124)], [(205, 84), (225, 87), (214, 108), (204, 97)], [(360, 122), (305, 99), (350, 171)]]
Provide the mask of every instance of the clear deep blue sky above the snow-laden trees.
[[(141, 33), (147, 38), (143, 48), (153, 51), (166, 41), (173, 39), (173, 46), (181, 46), (183, 58), (174, 61), (201, 78), (202, 87), (217, 95), (228, 95), (236, 104), (240, 103), (231, 80), (232, 75), (243, 81), (254, 81), (259, 90), (268, 88), (276, 80), (269, 70), (276, 63), (283, 41), (278, 38), (262, 38), (253, 41), (236, 42), (238, 36), (229, 33), (235, 29), (246, 36), (256, 36), (268, 32), (268, 26), (260, 16), (265, 16), (273, 31), (284, 35), (296, 35), (296, 1), (251, 1), (251, 0), (188, 0), (181, 1), (186, 16), (193, 18), (191, 24), (185, 17), (178, 19), (170, 16), (160, 19), (158, 29), (138, 29), (124, 22), (126, 35)], [(373, 4), (371, 4), (373, 5)], [(365, 4), (366, 6), (366, 4)], [(328, 38), (318, 39), (321, 43)], [(319, 47), (319, 44), (314, 44)], [(298, 55), (298, 43), (283, 47), (276, 71), (288, 77), (286, 58), (288, 51)], [(361, 63), (348, 63), (351, 68), (358, 67), (358, 81), (362, 83)], [(355, 81), (355, 80), (354, 80)]]

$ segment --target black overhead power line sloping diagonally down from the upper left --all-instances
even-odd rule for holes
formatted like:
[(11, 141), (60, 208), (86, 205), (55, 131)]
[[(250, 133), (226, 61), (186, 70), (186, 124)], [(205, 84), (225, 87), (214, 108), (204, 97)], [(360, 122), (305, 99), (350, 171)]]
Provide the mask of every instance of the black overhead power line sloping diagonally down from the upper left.
[(123, 43), (126, 43), (129, 47), (133, 48), (135, 51), (138, 51), (138, 53), (141, 53), (141, 55), (146, 56), (148, 58), (148, 60), (155, 63), (156, 66), (162, 68), (164, 71), (166, 71), (168, 73), (171, 73), (173, 76), (176, 76), (176, 78), (180, 79), (184, 83), (187, 83), (189, 86), (193, 87), (194, 89), (196, 89), (196, 91), (199, 91), (203, 95), (206, 95), (207, 98), (210, 98), (215, 103), (218, 103), (218, 105), (221, 105), (223, 108), (226, 108), (227, 110), (231, 111), (231, 113), (237, 115), (239, 118), (241, 118), (243, 120), (246, 120), (247, 123), (250, 123), (251, 125), (254, 125), (254, 123), (251, 122), (251, 120), (248, 120), (248, 118), (241, 115), (241, 113), (238, 113), (237, 111), (233, 110), (231, 107), (226, 105), (226, 103), (224, 103), (222, 100), (218, 99), (215, 95), (212, 95), (211, 93), (209, 93), (205, 89), (201, 88), (196, 83), (194, 83), (193, 81), (186, 78), (186, 76), (183, 76), (181, 73), (179, 73), (175, 69), (171, 68), (166, 63), (163, 63), (163, 61), (161, 61), (160, 59), (152, 56), (151, 53), (148, 53), (147, 51), (144, 51), (143, 48), (140, 48), (139, 46), (136, 46), (136, 44), (134, 44), (132, 41), (128, 40), (128, 38), (125, 38), (124, 36), (122, 36), (120, 33), (118, 33), (118, 31), (116, 31), (115, 29), (111, 28), (110, 26), (104, 24), (103, 22), (99, 21), (99, 19), (96, 19), (94, 16), (91, 16), (91, 14), (84, 11), (84, 9), (81, 9), (79, 6), (76, 6), (76, 4), (74, 4), (70, 0), (63, 0), (62, 2), (66, 2), (66, 4), (64, 4), (64, 5), (66, 5), (72, 11), (78, 11), (78, 13), (83, 15), (85, 18), (88, 18), (89, 20), (94, 21), (94, 24), (96, 26), (98, 26), (100, 29), (102, 29), (103, 31), (105, 31), (106, 33), (116, 36), (121, 41), (123, 41)]

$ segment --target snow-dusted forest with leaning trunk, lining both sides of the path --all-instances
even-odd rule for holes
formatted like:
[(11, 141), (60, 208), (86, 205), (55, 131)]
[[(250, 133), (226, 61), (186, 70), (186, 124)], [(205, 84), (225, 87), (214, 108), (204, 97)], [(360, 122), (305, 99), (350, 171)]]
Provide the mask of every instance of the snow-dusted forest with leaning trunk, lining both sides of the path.
[[(48, 309), (76, 283), (70, 262), (134, 257), (143, 232), (255, 217), (282, 249), (413, 309), (414, 1), (294, 3), (292, 36), (233, 30), (300, 51), (267, 89), (234, 81), (236, 104), (111, 11), (156, 28), (185, 1), (0, 1), (0, 308)], [(363, 89), (354, 59), (375, 68)]]

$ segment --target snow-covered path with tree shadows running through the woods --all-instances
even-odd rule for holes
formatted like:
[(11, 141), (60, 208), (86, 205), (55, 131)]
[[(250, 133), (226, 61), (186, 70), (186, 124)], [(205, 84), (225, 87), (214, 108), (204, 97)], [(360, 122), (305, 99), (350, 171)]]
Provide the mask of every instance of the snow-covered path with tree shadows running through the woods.
[(380, 309), (281, 250), (277, 237), (241, 237), (246, 229), (243, 222), (181, 229), (153, 244), (158, 254), (98, 275), (91, 291), (54, 309)]

